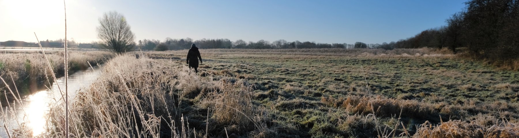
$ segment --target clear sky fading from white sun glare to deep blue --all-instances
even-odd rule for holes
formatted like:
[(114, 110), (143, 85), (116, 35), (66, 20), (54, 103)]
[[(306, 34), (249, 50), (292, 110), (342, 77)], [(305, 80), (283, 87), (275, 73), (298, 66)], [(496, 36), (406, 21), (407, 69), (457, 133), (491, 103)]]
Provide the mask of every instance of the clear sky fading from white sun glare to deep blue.
[[(135, 41), (227, 38), (231, 41), (383, 43), (445, 25), (466, 1), (136, 1), (65, 0), (67, 38), (97, 41), (99, 18), (124, 14)], [(60, 0), (0, 0), (0, 41), (64, 38)]]

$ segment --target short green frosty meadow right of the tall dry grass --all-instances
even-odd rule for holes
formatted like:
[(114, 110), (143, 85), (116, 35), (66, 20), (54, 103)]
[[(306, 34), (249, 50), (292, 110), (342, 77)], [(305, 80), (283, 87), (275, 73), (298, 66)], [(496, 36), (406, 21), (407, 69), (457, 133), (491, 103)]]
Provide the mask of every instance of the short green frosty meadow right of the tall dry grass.
[[(171, 66), (184, 63), (183, 56), (179, 57), (180, 61)], [(274, 108), (274, 118), (286, 118), (284, 122), (297, 126), (301, 134), (309, 132), (308, 135), (316, 136), (320, 133), (317, 130), (326, 131), (326, 128), (308, 126), (309, 121), (334, 126), (327, 132), (332, 135), (352, 136), (364, 130), (348, 128), (344, 131), (334, 124), (340, 122), (340, 116), (326, 117), (330, 112), (343, 112), (340, 110), (348, 115), (375, 114), (383, 120), (380, 124), (391, 124), (391, 119), (384, 119), (398, 118), (395, 116), (400, 116), (403, 110), (401, 121), (407, 125), (408, 132), (415, 131), (415, 125), (426, 120), (439, 123), (440, 115), (444, 120), (490, 116), (514, 122), (519, 117), (519, 73), (496, 70), (472, 60), (442, 56), (334, 57), (268, 52), (205, 58), (205, 64), (200, 67), (202, 76), (247, 78), (248, 83), (255, 86), (254, 100), (259, 106)], [(347, 100), (353, 102), (345, 102)], [(370, 100), (371, 103), (366, 104), (373, 107), (359, 107), (362, 101)], [(493, 123), (487, 125), (490, 124)], [(367, 136), (375, 136), (371, 134), (366, 132)]]

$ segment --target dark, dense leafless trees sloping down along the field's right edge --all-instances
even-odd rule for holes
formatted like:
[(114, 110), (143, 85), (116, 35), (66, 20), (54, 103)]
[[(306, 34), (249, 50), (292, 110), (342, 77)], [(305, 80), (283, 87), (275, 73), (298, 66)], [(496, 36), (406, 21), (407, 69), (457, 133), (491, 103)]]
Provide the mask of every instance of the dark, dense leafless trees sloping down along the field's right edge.
[(448, 48), (471, 58), (519, 70), (519, 0), (471, 0), (446, 25), (382, 44), (380, 48)]

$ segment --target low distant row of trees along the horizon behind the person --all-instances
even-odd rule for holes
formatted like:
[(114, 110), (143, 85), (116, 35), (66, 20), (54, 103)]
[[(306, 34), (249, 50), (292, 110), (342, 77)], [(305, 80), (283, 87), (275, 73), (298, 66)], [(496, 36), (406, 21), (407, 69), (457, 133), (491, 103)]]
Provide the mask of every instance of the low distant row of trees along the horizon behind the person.
[[(434, 29), (430, 29), (433, 31)], [(427, 32), (429, 30), (426, 30)], [(229, 39), (200, 39), (193, 40), (191, 38), (181, 38), (181, 39), (172, 39), (166, 38), (165, 40), (156, 40), (156, 39), (143, 39), (139, 40), (137, 43), (137, 48), (140, 50), (149, 50), (149, 51), (167, 51), (167, 50), (184, 50), (191, 48), (192, 43), (196, 43), (198, 48), (202, 49), (321, 49), (321, 48), (341, 48), (341, 49), (386, 49), (392, 50), (395, 48), (421, 48), (423, 46), (417, 47), (409, 47), (408, 42), (409, 39), (402, 39), (398, 42), (384, 42), (382, 44), (366, 44), (363, 42), (355, 42), (353, 44), (347, 43), (316, 43), (310, 41), (293, 41), (289, 42), (284, 39), (276, 40), (273, 42), (266, 40), (259, 41), (244, 41), (242, 39), (238, 39), (236, 41), (231, 41)], [(429, 44), (429, 43), (428, 43)], [(417, 45), (427, 45), (427, 44), (417, 44)], [(431, 45), (431, 44), (430, 44)], [(434, 45), (434, 44), (432, 44)], [(429, 46), (425, 46), (429, 47)]]

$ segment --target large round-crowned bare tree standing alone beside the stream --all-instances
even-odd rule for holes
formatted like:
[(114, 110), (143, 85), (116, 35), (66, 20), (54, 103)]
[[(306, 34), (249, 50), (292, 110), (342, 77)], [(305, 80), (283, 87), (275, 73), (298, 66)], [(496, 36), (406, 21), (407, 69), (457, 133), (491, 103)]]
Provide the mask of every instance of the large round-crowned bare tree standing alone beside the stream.
[(135, 34), (131, 32), (125, 16), (117, 11), (105, 12), (99, 18), (99, 24), (97, 32), (102, 47), (117, 54), (133, 50)]

